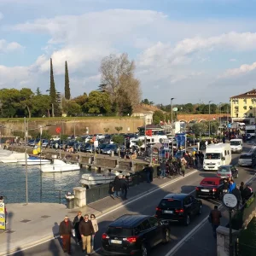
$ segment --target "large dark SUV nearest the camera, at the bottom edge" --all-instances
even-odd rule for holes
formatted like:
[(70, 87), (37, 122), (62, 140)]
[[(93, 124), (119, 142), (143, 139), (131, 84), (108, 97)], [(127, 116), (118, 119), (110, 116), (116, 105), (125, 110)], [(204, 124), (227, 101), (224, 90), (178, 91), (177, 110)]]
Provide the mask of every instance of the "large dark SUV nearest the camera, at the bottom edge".
[(102, 235), (102, 253), (147, 256), (151, 247), (170, 240), (166, 221), (147, 215), (125, 214), (110, 224)]

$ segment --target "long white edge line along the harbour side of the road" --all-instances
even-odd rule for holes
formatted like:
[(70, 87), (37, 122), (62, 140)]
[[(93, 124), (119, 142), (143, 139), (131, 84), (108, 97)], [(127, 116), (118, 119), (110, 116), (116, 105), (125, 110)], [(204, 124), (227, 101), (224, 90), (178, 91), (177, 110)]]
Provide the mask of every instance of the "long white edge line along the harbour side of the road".
[[(188, 174), (185, 175), (185, 177), (189, 177), (190, 175), (194, 174), (195, 172), (198, 172), (198, 170), (189, 172)], [(183, 178), (185, 178), (185, 177), (177, 177), (177, 178), (173, 179), (173, 180), (172, 180), (171, 182), (169, 182), (169, 183), (165, 183), (165, 184), (163, 184), (163, 185), (160, 185), (157, 189), (154, 189), (154, 190), (148, 192), (147, 194), (138, 196), (137, 198), (135, 198), (135, 199), (133, 199), (133, 200), (131, 200), (131, 201), (128, 201), (128, 202), (126, 202), (125, 204), (123, 204), (123, 205), (121, 205), (121, 206), (119, 206), (119, 207), (116, 207), (116, 208), (114, 208), (113, 210), (111, 210), (111, 211), (109, 211), (109, 212), (103, 213), (102, 215), (100, 215), (99, 217), (97, 217), (97, 219), (102, 218), (102, 217), (108, 215), (109, 213), (115, 212), (115, 211), (119, 210), (119, 209), (122, 208), (122, 207), (128, 206), (128, 205), (130, 205), (132, 202), (138, 201), (138, 200), (142, 199), (142, 198), (145, 197), (145, 196), (151, 195), (151, 194), (153, 194), (154, 192), (156, 192), (156, 191), (158, 191), (158, 190), (160, 190), (160, 189), (166, 188), (167, 186), (171, 185), (172, 183), (176, 183), (178, 180), (181, 180), (181, 179), (183, 179)], [(194, 190), (194, 191), (195, 191), (195, 190)], [(193, 193), (194, 191), (192, 191), (192, 193)], [(191, 192), (190, 192), (190, 193), (191, 193)], [(190, 194), (190, 193), (189, 193), (189, 194)], [(21, 248), (21, 249), (18, 250), (18, 251), (15, 251), (15, 252), (12, 252), (12, 253), (9, 253), (9, 254), (5, 254), (5, 255), (6, 255), (6, 256), (9, 256), (9, 255), (12, 255), (12, 254), (14, 254), (14, 253), (20, 253), (20, 252), (26, 251), (27, 249), (31, 249), (32, 247), (38, 247), (39, 245), (42, 245), (42, 244), (44, 244), (44, 243), (47, 242), (47, 241), (54, 240), (55, 238), (58, 238), (58, 237), (60, 237), (60, 236), (51, 237), (51, 238), (46, 239), (46, 240), (44, 240), (44, 241), (40, 241), (39, 243), (35, 243), (35, 244), (33, 244), (32, 246), (24, 247), (24, 248)], [(96, 252), (98, 252), (99, 250), (101, 250), (101, 248), (97, 248), (94, 252), (92, 252), (92, 253), (90, 253), (90, 254), (96, 253)]]

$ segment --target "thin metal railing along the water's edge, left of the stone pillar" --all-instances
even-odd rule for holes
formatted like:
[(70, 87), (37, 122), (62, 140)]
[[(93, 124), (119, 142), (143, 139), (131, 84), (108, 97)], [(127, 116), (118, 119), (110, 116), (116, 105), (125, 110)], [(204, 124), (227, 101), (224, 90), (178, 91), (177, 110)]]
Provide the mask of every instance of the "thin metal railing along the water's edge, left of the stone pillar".
[[(65, 203), (65, 194), (67, 191), (63, 190), (49, 190), (49, 189), (29, 189), (28, 201), (29, 202), (50, 202), (50, 203)], [(0, 190), (0, 195), (3, 195), (4, 201), (7, 203), (25, 203), (26, 190), (25, 189), (12, 189)]]

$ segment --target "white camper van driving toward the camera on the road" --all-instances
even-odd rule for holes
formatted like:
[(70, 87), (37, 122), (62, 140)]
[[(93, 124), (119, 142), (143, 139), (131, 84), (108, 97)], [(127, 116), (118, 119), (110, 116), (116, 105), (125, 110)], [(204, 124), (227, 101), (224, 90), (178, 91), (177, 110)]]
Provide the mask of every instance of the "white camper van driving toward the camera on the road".
[(230, 165), (231, 160), (230, 143), (210, 144), (207, 146), (203, 169), (218, 171), (219, 166)]

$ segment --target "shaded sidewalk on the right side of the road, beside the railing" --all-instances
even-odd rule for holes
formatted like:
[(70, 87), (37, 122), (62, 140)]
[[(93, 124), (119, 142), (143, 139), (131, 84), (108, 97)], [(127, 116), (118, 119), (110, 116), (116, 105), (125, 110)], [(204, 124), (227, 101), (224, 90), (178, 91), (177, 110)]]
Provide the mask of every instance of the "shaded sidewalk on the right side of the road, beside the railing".
[[(256, 177), (250, 181), (253, 191), (256, 191)], [(222, 213), (221, 225), (226, 226), (229, 223), (229, 212), (226, 207), (221, 207)], [(178, 248), (173, 256), (179, 255), (193, 255), (196, 256), (216, 256), (217, 255), (217, 243), (216, 239), (212, 235), (212, 225), (206, 220), (205, 223), (195, 231), (186, 241), (183, 242), (182, 247)]]

